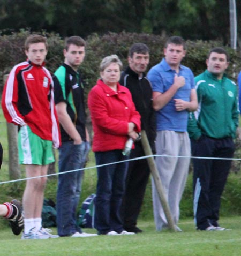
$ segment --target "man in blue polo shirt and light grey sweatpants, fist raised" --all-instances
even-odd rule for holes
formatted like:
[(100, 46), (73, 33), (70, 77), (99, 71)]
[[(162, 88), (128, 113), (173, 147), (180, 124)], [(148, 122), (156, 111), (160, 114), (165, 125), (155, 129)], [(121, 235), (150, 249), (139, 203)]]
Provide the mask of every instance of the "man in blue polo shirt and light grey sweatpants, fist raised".
[[(157, 156), (155, 161), (177, 231), (182, 231), (177, 226), (179, 202), (191, 155), (188, 112), (198, 107), (193, 73), (180, 65), (185, 54), (182, 37), (171, 36), (164, 46), (165, 58), (147, 74), (153, 85), (153, 107), (156, 111), (156, 153), (168, 156)], [(161, 231), (168, 227), (168, 223), (153, 180), (152, 194), (156, 230)]]

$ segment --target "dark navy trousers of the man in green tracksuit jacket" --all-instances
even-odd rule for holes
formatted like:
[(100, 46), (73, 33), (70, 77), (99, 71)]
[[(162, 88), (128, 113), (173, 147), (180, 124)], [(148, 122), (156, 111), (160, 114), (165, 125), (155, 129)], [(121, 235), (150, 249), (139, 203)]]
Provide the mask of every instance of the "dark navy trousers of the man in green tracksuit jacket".
[[(232, 158), (235, 145), (231, 137), (213, 139), (202, 135), (191, 141), (192, 155)], [(193, 211), (197, 228), (215, 227), (219, 220), (220, 199), (231, 166), (231, 160), (193, 159)]]

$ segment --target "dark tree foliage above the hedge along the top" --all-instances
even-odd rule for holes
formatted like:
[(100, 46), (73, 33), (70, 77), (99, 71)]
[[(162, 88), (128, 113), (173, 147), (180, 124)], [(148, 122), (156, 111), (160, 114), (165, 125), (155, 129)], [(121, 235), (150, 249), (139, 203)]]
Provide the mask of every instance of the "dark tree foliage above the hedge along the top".
[[(229, 0), (1, 0), (0, 31), (29, 28), (61, 36), (109, 31), (230, 41)], [(241, 1), (236, 0), (237, 22)], [(238, 26), (241, 40), (241, 27)]]

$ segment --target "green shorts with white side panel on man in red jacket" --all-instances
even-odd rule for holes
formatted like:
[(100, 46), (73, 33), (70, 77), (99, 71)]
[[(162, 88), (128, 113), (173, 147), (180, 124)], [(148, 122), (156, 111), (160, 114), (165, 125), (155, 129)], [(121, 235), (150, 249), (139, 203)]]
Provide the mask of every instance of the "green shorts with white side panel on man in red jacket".
[(20, 164), (47, 165), (55, 161), (52, 141), (41, 139), (27, 125), (18, 133), (18, 154)]

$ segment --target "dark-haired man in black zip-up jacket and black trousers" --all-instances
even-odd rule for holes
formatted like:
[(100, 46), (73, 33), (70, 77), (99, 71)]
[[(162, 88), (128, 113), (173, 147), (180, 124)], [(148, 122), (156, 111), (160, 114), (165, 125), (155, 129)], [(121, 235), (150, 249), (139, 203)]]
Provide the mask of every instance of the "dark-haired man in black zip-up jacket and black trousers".
[[(129, 66), (122, 73), (120, 84), (126, 86), (131, 94), (135, 108), (141, 115), (141, 130), (145, 130), (150, 146), (155, 153), (155, 111), (152, 107), (152, 85), (145, 77), (149, 64), (149, 48), (144, 43), (134, 43), (128, 54)], [(144, 156), (141, 141), (135, 142), (130, 158)], [(124, 229), (139, 233), (137, 218), (140, 213), (150, 170), (146, 159), (130, 161), (126, 177), (122, 213)]]

